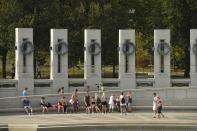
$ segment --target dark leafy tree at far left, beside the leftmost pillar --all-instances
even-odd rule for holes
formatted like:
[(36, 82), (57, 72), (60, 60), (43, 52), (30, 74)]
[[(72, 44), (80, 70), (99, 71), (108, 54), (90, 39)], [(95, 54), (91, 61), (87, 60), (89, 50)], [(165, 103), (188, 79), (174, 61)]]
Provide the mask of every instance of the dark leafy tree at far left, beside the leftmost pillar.
[(2, 56), (2, 78), (6, 78), (6, 58), (14, 49), (14, 29), (18, 16), (16, 0), (0, 1), (0, 55)]

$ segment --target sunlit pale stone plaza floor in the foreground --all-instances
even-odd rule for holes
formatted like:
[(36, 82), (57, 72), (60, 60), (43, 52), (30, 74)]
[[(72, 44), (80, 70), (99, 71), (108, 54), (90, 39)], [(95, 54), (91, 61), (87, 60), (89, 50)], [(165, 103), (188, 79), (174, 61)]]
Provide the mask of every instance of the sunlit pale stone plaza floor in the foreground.
[(96, 127), (108, 127), (109, 130), (116, 130), (115, 127), (117, 126), (129, 126), (129, 130), (138, 129), (140, 131), (145, 131), (145, 129), (147, 131), (147, 127), (151, 127), (149, 129), (151, 131), (159, 131), (161, 129), (159, 127), (162, 127), (161, 131), (166, 131), (169, 127), (173, 127), (170, 129), (173, 131), (197, 130), (196, 111), (167, 111), (164, 112), (165, 118), (160, 119), (153, 118), (152, 115), (153, 113), (150, 111), (136, 111), (127, 115), (121, 115), (120, 113), (33, 114), (32, 116), (24, 114), (0, 114), (0, 131), (37, 131), (38, 128), (43, 131), (49, 131), (49, 129), (54, 131), (62, 129), (61, 131), (66, 131), (66, 128), (71, 127), (78, 127), (79, 130), (84, 131), (90, 130), (90, 127), (93, 129)]

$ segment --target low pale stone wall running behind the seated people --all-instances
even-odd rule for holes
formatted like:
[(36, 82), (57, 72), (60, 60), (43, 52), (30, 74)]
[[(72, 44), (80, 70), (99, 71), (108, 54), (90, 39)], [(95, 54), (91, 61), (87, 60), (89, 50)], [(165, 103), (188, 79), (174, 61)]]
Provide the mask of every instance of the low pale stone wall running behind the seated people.
[[(133, 89), (133, 90), (124, 90), (124, 94), (128, 91), (132, 91), (133, 103), (132, 105), (138, 108), (144, 107), (144, 109), (151, 108), (153, 92), (156, 92), (159, 96), (162, 97), (164, 102), (164, 107), (175, 107), (181, 109), (188, 109), (188, 107), (197, 107), (197, 88), (188, 88), (188, 87), (177, 87), (177, 88), (143, 88), (143, 89)], [(107, 90), (105, 94), (109, 98), (110, 94), (114, 96), (119, 96), (121, 90)], [(102, 92), (90, 92), (90, 96), (94, 96), (95, 93), (98, 93), (100, 96)], [(42, 95), (29, 96), (31, 105), (34, 108), (40, 107), (40, 98)], [(67, 102), (70, 99), (71, 94), (65, 94)], [(85, 92), (78, 93), (79, 105), (84, 106), (84, 96)], [(59, 95), (55, 94), (45, 94), (47, 101), (50, 103), (55, 103), (59, 99)], [(22, 108), (22, 99), (21, 97), (4, 97), (0, 98), (0, 110)], [(143, 109), (143, 108), (142, 108)]]

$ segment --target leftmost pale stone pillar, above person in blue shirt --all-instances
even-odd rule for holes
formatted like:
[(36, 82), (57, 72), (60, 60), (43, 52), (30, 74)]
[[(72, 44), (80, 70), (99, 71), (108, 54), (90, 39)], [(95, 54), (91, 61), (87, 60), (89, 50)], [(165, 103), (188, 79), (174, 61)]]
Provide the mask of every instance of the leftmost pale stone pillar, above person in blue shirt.
[(29, 94), (34, 92), (34, 68), (33, 68), (33, 29), (16, 28), (16, 77), (18, 80), (18, 95), (24, 88), (28, 88)]

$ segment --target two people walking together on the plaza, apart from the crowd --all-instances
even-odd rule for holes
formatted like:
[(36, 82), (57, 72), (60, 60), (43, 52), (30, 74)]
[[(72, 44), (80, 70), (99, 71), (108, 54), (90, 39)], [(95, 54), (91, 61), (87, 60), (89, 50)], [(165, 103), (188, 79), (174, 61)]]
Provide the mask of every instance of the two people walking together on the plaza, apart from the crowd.
[(162, 113), (163, 108), (163, 101), (160, 96), (158, 96), (155, 92), (153, 93), (153, 118), (164, 118), (164, 115)]

